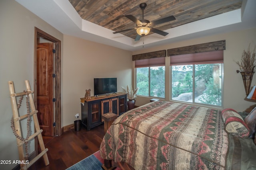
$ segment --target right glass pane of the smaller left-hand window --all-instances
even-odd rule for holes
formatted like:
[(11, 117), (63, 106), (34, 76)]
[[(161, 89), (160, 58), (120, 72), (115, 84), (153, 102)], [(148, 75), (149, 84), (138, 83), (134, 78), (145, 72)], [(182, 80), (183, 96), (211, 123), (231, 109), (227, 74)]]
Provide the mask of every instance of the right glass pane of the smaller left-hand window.
[(164, 98), (164, 72), (165, 66), (150, 67), (150, 96)]

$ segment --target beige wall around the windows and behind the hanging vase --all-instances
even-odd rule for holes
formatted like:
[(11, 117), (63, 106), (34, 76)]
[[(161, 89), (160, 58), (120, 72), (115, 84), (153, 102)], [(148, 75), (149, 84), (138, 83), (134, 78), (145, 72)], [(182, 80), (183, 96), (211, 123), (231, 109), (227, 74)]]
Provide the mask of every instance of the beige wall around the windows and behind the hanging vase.
[[(252, 47), (256, 45), (256, 28), (230, 33), (222, 33), (206, 37), (198, 37), (197, 39), (190, 39), (178, 43), (170, 43), (150, 49), (142, 49), (139, 51), (134, 51), (132, 55), (220, 40), (226, 40), (226, 50), (224, 50), (224, 108), (233, 108), (237, 111), (244, 111), (248, 107), (255, 105), (256, 102), (252, 100), (245, 100), (246, 93), (244, 90), (242, 76), (240, 73), (236, 73), (236, 70), (239, 70), (239, 66), (236, 64), (236, 61), (241, 60), (242, 52), (244, 51), (244, 49), (248, 49), (248, 45), (250, 43), (251, 49), (253, 49)], [(168, 63), (170, 63), (170, 57), (166, 57), (166, 63), (166, 83), (169, 85), (170, 66), (168, 65)], [(256, 84), (256, 76), (254, 76), (252, 80), (252, 86), (254, 84)], [(166, 87), (166, 91), (167, 92), (165, 100), (168, 101), (170, 100), (170, 90), (168, 89), (168, 86)], [(145, 103), (148, 103), (149, 100), (150, 98), (138, 96), (136, 100), (136, 105), (141, 106)]]

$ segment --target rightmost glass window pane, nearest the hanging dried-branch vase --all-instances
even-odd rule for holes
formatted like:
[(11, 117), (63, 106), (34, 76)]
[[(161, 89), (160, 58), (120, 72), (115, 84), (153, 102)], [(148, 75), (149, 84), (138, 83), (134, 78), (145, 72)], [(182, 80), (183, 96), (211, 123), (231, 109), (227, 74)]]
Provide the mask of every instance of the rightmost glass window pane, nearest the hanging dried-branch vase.
[(221, 106), (222, 64), (195, 65), (195, 102)]

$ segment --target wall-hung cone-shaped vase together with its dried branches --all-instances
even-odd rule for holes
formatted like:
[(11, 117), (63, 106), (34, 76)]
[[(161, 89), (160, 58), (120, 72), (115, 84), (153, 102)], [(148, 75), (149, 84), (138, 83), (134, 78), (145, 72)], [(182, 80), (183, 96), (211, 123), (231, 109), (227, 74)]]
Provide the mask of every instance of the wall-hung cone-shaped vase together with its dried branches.
[(236, 64), (238, 64), (240, 67), (240, 70), (236, 70), (236, 72), (240, 72), (242, 75), (246, 96), (249, 94), (252, 77), (254, 74), (254, 67), (256, 66), (255, 49), (256, 46), (254, 47), (254, 50), (251, 51), (249, 44), (247, 51), (244, 50), (242, 53), (241, 61), (236, 62)]

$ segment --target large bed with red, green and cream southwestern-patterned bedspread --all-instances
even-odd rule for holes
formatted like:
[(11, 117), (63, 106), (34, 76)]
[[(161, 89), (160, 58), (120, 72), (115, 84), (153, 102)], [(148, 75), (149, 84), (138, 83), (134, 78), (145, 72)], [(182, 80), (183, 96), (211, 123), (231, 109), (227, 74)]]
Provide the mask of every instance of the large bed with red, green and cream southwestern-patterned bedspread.
[(248, 138), (249, 129), (229, 131), (225, 120), (230, 119), (224, 115), (218, 109), (150, 102), (113, 122), (100, 155), (106, 168), (114, 160), (136, 170), (256, 169), (256, 145)]

